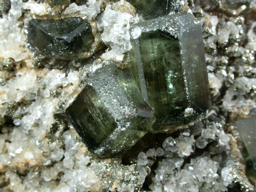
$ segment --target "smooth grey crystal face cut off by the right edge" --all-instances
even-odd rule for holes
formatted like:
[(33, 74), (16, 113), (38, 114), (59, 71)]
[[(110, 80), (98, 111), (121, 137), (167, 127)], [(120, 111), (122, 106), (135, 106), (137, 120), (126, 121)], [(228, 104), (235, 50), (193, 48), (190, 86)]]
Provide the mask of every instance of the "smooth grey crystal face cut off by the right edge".
[(236, 127), (243, 142), (243, 156), (246, 159), (246, 172), (256, 178), (256, 115), (236, 121)]

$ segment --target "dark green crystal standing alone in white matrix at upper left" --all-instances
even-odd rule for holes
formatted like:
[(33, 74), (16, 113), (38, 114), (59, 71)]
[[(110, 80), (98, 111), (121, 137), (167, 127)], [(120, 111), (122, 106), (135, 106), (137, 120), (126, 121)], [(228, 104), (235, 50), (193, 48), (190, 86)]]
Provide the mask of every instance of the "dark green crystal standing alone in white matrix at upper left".
[(91, 25), (80, 17), (29, 21), (28, 43), (49, 58), (74, 59), (93, 42)]

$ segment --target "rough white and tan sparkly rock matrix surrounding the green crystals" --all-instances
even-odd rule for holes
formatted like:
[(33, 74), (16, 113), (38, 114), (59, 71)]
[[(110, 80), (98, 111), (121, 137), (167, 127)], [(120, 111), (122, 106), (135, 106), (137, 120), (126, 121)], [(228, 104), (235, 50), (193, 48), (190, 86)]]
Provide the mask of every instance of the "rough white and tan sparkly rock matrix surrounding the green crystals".
[[(175, 9), (201, 22), (213, 114), (172, 134), (146, 134), (122, 159), (100, 160), (64, 110), (103, 63), (126, 66), (129, 28), (144, 18), (126, 1), (10, 0), (0, 18), (0, 191), (253, 191), (231, 123), (256, 108), (256, 2), (228, 10), (230, 1), (219, 2), (176, 1)], [(61, 70), (54, 61), (37, 65), (29, 20), (65, 17), (90, 22), (88, 59)]]

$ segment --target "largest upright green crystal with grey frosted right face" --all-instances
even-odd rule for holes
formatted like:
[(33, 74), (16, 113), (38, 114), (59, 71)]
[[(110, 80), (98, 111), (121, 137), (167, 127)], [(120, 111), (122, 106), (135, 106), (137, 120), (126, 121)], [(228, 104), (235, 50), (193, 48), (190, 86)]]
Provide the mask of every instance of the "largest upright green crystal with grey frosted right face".
[(201, 30), (187, 13), (141, 22), (130, 30), (130, 68), (155, 112), (153, 130), (184, 127), (209, 112)]

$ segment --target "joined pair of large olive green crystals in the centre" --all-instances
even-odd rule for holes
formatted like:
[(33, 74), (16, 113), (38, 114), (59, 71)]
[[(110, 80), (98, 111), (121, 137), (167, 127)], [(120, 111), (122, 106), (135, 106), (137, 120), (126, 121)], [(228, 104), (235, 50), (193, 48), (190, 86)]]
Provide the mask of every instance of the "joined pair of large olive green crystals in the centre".
[(98, 69), (66, 110), (82, 141), (100, 157), (116, 157), (148, 131), (175, 131), (211, 106), (201, 25), (173, 14), (130, 29), (129, 69)]

